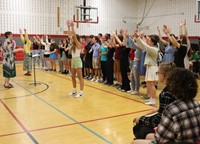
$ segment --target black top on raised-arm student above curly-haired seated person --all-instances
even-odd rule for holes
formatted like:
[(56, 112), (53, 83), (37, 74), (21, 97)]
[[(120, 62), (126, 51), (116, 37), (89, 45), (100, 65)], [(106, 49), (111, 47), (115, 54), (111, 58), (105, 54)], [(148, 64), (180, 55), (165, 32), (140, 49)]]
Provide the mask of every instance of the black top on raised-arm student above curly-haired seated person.
[(174, 63), (177, 67), (185, 68), (184, 58), (187, 54), (187, 46), (181, 45), (180, 48), (177, 48), (174, 53)]

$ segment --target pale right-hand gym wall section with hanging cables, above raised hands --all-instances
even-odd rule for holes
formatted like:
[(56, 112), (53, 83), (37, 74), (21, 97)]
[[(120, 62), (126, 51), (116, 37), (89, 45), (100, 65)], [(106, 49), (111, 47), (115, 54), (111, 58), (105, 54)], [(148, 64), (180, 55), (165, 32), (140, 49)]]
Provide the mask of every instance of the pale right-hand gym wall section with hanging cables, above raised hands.
[[(147, 0), (146, 12), (150, 9), (154, 0)], [(141, 18), (144, 12), (146, 0), (137, 1), (137, 18)], [(141, 29), (147, 33), (157, 33), (156, 27), (163, 24), (169, 25), (174, 34), (179, 33), (179, 23), (187, 20), (190, 36), (200, 35), (200, 23), (194, 23), (196, 12), (196, 0), (155, 0), (152, 9), (141, 25)], [(137, 22), (140, 22), (138, 19)]]

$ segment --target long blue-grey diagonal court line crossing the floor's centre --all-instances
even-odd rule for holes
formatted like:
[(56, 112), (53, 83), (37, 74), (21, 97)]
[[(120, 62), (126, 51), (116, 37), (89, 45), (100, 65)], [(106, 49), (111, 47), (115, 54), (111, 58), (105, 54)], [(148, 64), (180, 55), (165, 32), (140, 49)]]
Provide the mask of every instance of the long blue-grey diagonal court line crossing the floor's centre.
[[(20, 86), (21, 88), (23, 88), (24, 90), (28, 91), (30, 94), (33, 94), (34, 97), (38, 98), (40, 101), (44, 102), (45, 104), (47, 104), (48, 106), (50, 106), (52, 109), (56, 110), (57, 112), (59, 112), (60, 114), (64, 115), (65, 117), (69, 118), (70, 120), (72, 120), (75, 123), (78, 123), (78, 121), (76, 121), (74, 118), (72, 118), (71, 116), (69, 116), (68, 114), (62, 112), (61, 110), (59, 110), (58, 108), (54, 107), (53, 105), (51, 105), (49, 102), (45, 101), (44, 99), (42, 99), (41, 97), (37, 96), (36, 94), (32, 93), (31, 91), (29, 91), (27, 88), (23, 87), (22, 85), (20, 85), (19, 83), (15, 82), (14, 80), (12, 80), (15, 84), (17, 84), (18, 86)], [(112, 144), (112, 142), (110, 142), (109, 140), (107, 140), (106, 138), (102, 137), (101, 135), (99, 135), (98, 133), (96, 133), (95, 131), (91, 130), (90, 128), (84, 126), (83, 124), (79, 123), (78, 125), (80, 125), (82, 128), (84, 128), (85, 130), (89, 131), (90, 133), (94, 134), (96, 137), (100, 138), (101, 140), (103, 140), (104, 142), (108, 143), (108, 144)]]

